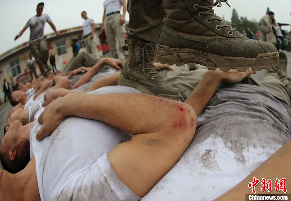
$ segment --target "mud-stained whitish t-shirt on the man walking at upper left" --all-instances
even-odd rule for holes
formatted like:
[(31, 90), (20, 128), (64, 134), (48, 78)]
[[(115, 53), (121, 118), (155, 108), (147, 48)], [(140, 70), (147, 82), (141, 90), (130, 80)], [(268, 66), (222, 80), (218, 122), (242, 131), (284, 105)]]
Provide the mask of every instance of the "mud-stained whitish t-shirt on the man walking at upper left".
[(30, 28), (29, 41), (36, 41), (42, 39), (46, 22), (50, 22), (50, 16), (42, 14), (41, 16), (33, 16), (28, 20), (25, 27)]

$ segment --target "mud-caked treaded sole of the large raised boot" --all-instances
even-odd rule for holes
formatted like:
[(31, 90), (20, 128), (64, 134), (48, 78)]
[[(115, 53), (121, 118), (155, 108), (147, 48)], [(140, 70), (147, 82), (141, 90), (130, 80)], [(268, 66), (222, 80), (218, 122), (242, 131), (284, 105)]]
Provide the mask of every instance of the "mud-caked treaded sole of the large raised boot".
[(168, 65), (182, 66), (187, 63), (197, 63), (207, 66), (209, 70), (219, 68), (221, 71), (237, 69), (245, 72), (248, 68), (255, 71), (269, 70), (279, 64), (279, 53), (262, 53), (257, 58), (227, 57), (188, 48), (170, 48), (167, 45), (159, 45), (155, 49), (155, 62)]

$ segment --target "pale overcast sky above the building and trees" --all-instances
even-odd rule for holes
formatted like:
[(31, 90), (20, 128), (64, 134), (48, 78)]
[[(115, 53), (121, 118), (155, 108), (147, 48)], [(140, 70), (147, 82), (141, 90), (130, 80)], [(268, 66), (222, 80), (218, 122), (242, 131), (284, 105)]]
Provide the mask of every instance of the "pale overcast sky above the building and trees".
[[(135, 0), (132, 0), (135, 1)], [(29, 18), (36, 15), (36, 5), (41, 0), (0, 0), (0, 30), (1, 45), (0, 54), (16, 45), (29, 40), (29, 28), (24, 34), (14, 41), (14, 37), (24, 27)], [(103, 0), (44, 0), (43, 13), (49, 14), (52, 22), (58, 30), (82, 25), (84, 19), (80, 12), (85, 10), (89, 17), (96, 23), (102, 22)], [(228, 0), (231, 7), (222, 3), (221, 8), (215, 8), (215, 12), (228, 21), (231, 21), (232, 9), (235, 8), (239, 16), (257, 21), (266, 13), (267, 7), (275, 13), (275, 19), (279, 23), (291, 24), (291, 0)], [(182, 11), (181, 11), (182, 12)], [(128, 14), (126, 20), (128, 20)], [(290, 26), (284, 27), (290, 30)], [(53, 32), (49, 24), (45, 26), (45, 34)]]

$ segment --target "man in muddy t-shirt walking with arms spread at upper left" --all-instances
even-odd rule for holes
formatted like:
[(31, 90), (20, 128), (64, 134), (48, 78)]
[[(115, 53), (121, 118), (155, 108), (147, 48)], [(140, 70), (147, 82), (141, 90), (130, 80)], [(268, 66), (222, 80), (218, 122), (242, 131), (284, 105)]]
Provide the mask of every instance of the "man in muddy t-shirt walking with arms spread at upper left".
[(42, 14), (43, 7), (43, 2), (37, 4), (37, 15), (28, 20), (24, 28), (18, 35), (15, 36), (14, 40), (17, 40), (17, 38), (19, 38), (28, 27), (30, 28), (29, 47), (31, 49), (31, 53), (38, 63), (41, 74), (47, 76), (51, 68), (47, 64), (49, 50), (47, 48), (46, 38), (44, 37), (45, 23), (47, 22), (50, 24), (50, 27), (54, 30), (58, 37), (60, 37), (61, 34), (57, 31), (50, 19), (50, 16), (47, 14)]

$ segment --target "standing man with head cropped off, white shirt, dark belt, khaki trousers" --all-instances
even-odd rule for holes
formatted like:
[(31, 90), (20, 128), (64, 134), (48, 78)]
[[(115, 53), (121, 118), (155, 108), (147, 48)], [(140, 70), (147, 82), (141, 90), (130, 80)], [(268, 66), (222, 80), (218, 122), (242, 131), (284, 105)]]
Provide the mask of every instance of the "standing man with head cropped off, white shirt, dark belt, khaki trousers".
[[(121, 6), (122, 15), (120, 14)], [(125, 45), (125, 0), (106, 0), (104, 2), (103, 24), (101, 31), (105, 30), (107, 43), (111, 56), (116, 59), (125, 61), (126, 51), (122, 50)], [(119, 46), (119, 50), (117, 49)]]

